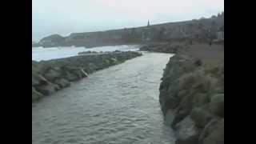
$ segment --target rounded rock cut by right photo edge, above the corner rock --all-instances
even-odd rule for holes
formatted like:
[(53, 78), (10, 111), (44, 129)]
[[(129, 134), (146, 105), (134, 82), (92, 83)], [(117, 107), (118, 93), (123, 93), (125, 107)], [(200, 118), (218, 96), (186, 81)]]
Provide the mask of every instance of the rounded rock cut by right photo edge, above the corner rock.
[(207, 110), (224, 118), (224, 94), (215, 94), (206, 106)]

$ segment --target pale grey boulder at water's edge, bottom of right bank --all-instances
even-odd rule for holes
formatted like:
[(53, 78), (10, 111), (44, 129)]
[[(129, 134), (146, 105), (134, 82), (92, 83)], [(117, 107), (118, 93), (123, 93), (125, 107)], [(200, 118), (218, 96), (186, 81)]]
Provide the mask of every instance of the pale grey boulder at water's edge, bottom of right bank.
[(190, 116), (175, 126), (176, 144), (198, 144), (198, 130)]

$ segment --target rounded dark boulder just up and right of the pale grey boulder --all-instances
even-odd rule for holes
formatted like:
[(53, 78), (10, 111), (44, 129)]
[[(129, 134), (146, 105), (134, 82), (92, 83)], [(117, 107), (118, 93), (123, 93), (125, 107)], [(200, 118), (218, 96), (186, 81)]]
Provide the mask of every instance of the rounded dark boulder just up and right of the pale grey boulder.
[(214, 116), (212, 114), (210, 114), (208, 111), (203, 110), (202, 107), (196, 107), (194, 108), (191, 113), (190, 113), (191, 118), (193, 119), (194, 123), (196, 126), (203, 128), (204, 126), (206, 126), (206, 124), (208, 122), (210, 122), (210, 120), (212, 118), (214, 118)]

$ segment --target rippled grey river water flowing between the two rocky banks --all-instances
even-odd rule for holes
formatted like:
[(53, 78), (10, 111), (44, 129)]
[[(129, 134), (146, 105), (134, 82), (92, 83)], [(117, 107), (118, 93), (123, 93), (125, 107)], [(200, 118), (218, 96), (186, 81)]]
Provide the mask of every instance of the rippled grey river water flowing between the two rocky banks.
[(33, 103), (33, 144), (174, 143), (158, 102), (171, 56), (144, 53)]

